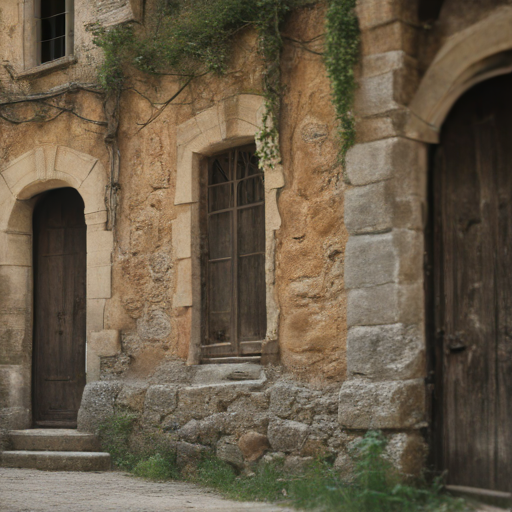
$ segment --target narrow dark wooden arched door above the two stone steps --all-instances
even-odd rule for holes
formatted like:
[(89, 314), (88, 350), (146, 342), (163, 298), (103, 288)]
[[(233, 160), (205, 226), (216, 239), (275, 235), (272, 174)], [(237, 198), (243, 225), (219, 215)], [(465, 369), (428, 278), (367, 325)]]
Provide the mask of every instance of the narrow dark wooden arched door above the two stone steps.
[(34, 210), (33, 419), (76, 427), (85, 387), (86, 225), (71, 188), (46, 193)]

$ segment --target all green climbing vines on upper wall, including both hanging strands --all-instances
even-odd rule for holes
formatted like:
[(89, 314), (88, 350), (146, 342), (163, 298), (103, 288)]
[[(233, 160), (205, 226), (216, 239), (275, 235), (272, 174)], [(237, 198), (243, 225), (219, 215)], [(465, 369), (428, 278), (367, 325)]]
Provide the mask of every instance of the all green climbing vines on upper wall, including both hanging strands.
[[(354, 14), (355, 0), (328, 1), (325, 60), (344, 155), (355, 138), (351, 108), (358, 24)], [(99, 72), (100, 83), (107, 92), (122, 90), (127, 80), (126, 70), (130, 67), (152, 75), (177, 77), (181, 81), (178, 93), (156, 109), (144, 127), (194, 79), (207, 73), (225, 73), (233, 37), (245, 27), (253, 26), (265, 63), (263, 91), (266, 100), (263, 128), (256, 142), (263, 165), (273, 167), (280, 161), (281, 29), (291, 10), (311, 3), (311, 0), (158, 0), (144, 25), (94, 27), (95, 43), (105, 54)]]

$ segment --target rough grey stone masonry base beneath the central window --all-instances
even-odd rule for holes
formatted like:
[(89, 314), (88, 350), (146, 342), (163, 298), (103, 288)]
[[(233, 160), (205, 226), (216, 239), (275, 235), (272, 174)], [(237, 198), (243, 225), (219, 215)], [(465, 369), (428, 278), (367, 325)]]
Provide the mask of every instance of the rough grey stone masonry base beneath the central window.
[[(147, 381), (89, 385), (78, 428), (95, 432), (110, 415), (130, 413), (137, 416), (137, 428), (167, 435), (182, 466), (210, 451), (239, 470), (281, 458), (293, 472), (325, 456), (349, 476), (350, 447), (363, 432), (340, 427), (338, 392), (338, 385), (315, 389), (297, 384), (275, 367), (167, 363)], [(424, 455), (422, 437), (387, 435), (387, 455), (395, 466), (417, 474)]]

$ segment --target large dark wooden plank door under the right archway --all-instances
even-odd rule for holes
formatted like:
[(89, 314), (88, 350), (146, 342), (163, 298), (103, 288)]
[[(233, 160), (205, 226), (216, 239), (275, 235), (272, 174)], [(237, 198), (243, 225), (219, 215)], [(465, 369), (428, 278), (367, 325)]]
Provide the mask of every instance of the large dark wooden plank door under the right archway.
[(512, 491), (512, 76), (469, 90), (433, 161), (438, 462)]

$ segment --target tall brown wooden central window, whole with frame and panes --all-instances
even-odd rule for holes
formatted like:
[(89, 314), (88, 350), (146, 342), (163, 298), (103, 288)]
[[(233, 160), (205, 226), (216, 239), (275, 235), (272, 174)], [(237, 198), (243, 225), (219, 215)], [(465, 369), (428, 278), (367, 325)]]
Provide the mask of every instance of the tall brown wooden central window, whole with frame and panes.
[(209, 159), (202, 204), (203, 362), (258, 360), (267, 329), (265, 188), (253, 146)]

